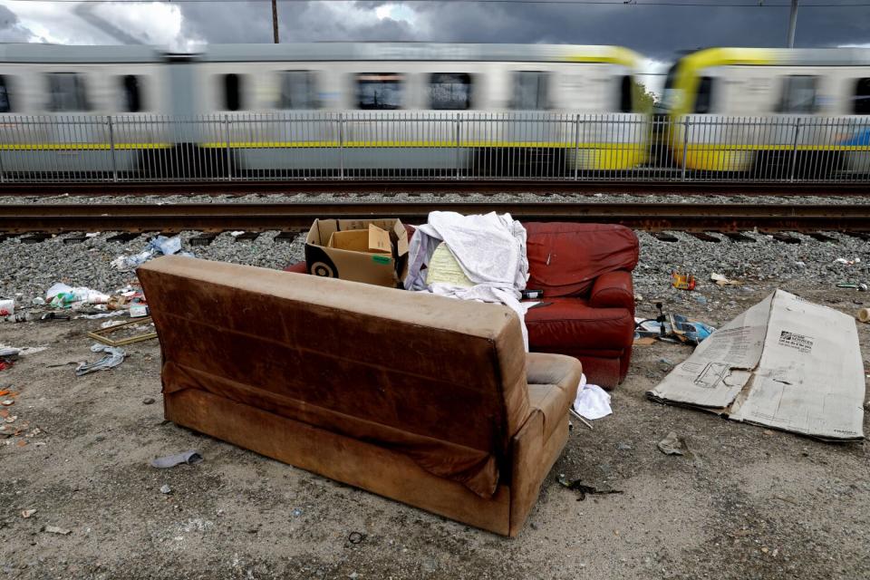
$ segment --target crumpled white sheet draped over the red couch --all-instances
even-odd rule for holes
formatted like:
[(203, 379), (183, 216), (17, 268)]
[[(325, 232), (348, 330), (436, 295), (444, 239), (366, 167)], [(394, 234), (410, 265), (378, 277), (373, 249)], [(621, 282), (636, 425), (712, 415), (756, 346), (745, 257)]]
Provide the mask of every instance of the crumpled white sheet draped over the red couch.
[[(423, 266), (442, 241), (475, 285), (426, 284)], [(519, 302), (520, 291), (528, 280), (526, 228), (510, 214), (463, 216), (453, 211), (433, 211), (428, 223), (417, 227), (411, 237), (408, 256), (406, 290), (505, 304), (519, 315), (520, 321), (525, 321), (526, 311), (533, 305)], [(521, 325), (528, 351), (526, 324)]]

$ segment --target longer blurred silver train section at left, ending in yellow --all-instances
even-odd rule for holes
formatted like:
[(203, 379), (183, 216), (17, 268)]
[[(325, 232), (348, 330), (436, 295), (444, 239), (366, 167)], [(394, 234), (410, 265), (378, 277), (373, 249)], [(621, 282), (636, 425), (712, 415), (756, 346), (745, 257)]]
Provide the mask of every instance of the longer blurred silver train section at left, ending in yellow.
[(168, 177), (628, 169), (647, 150), (638, 60), (538, 44), (0, 45), (0, 161)]

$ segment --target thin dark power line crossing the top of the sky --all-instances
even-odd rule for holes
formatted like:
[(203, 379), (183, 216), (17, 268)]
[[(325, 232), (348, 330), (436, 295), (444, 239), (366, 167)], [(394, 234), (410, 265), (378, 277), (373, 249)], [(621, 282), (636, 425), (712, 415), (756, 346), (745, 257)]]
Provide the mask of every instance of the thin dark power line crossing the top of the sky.
[[(6, 2), (48, 4), (247, 4), (256, 2), (272, 2), (272, 0), (5, 0)], [(307, 4), (309, 2), (349, 4), (355, 0), (276, 0), (282, 4)], [(518, 5), (601, 5), (601, 6), (686, 6), (691, 8), (790, 8), (790, 4), (759, 4), (758, 2), (741, 2), (739, 4), (713, 4), (703, 2), (679, 2), (674, 0), (650, 0), (643, 2), (635, 0), (394, 0), (391, 4), (518, 4)], [(801, 4), (802, 8), (865, 8), (870, 2), (852, 2), (842, 4)]]

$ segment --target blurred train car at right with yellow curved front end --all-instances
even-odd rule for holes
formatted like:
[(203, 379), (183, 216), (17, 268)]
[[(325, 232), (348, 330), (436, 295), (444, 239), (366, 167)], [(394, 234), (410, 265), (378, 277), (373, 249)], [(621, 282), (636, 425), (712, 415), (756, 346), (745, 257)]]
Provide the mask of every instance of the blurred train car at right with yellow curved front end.
[(870, 50), (710, 48), (665, 81), (659, 123), (685, 169), (778, 179), (870, 171)]

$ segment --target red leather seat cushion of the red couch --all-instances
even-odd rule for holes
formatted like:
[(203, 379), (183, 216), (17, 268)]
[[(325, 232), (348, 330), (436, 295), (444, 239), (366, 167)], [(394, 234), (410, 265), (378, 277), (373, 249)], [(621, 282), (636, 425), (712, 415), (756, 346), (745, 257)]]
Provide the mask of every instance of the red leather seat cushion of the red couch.
[(528, 346), (555, 353), (554, 348), (588, 349), (619, 356), (630, 348), (634, 318), (625, 308), (592, 308), (582, 298), (547, 298), (526, 314)]

